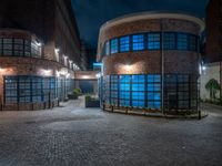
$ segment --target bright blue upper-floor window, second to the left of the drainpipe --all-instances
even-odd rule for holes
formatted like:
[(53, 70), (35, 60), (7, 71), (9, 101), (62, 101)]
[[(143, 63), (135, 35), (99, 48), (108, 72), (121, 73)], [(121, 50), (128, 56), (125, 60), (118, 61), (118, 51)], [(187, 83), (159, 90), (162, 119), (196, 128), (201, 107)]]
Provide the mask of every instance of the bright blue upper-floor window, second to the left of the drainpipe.
[(144, 35), (143, 34), (132, 35), (132, 50), (133, 51), (144, 50)]

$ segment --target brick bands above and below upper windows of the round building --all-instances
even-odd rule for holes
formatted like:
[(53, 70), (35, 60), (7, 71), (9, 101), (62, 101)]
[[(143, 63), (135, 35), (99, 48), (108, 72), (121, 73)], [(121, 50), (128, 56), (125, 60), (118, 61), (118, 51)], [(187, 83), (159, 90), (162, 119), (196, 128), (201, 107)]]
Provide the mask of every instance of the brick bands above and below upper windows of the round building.
[[(164, 18), (163, 18), (164, 19)], [(180, 19), (149, 19), (139, 20), (133, 22), (127, 22), (103, 29), (100, 32), (100, 45), (104, 45), (105, 41), (117, 37), (123, 37), (128, 34), (163, 31), (163, 32), (185, 32), (194, 35), (200, 34), (201, 27), (191, 21)], [(162, 24), (162, 25), (161, 25)], [(101, 49), (99, 48), (99, 52)], [(164, 53), (164, 68), (167, 73), (196, 73), (199, 72), (199, 59), (198, 52), (179, 51), (179, 50), (163, 50)], [(111, 56), (105, 56), (103, 61), (104, 75), (109, 74), (128, 74), (121, 68), (118, 68), (118, 63), (125, 64), (130, 60), (130, 63), (135, 64), (135, 73), (160, 73), (161, 72), (161, 51), (138, 51), (117, 53)]]

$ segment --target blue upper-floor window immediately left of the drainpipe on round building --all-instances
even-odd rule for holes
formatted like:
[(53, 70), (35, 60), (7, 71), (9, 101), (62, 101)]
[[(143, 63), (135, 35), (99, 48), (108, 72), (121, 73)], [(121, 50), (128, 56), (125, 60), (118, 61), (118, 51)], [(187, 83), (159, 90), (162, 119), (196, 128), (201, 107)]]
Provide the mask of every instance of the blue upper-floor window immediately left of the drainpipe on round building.
[(160, 50), (160, 33), (148, 34), (148, 49)]

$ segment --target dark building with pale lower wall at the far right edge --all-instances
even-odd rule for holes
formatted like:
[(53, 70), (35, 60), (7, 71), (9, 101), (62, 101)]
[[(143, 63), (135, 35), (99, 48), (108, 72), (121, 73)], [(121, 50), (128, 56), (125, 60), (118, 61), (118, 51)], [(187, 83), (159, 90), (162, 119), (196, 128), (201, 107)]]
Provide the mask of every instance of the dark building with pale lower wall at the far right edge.
[(221, 85), (216, 100), (222, 100), (222, 0), (210, 0), (205, 18), (205, 49), (201, 75), (201, 98), (211, 100), (205, 84), (214, 79)]

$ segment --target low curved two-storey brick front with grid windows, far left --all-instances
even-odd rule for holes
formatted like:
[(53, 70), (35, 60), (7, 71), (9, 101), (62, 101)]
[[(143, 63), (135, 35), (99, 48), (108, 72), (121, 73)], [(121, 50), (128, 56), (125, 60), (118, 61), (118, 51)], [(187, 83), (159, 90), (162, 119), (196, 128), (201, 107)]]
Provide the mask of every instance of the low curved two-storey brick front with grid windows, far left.
[[(34, 51), (32, 51), (33, 42), (39, 44), (38, 45), (39, 52), (37, 54), (34, 54)], [(59, 100), (64, 100), (63, 97), (65, 97), (69, 90), (67, 90), (67, 86), (61, 87), (63, 89), (64, 94), (62, 94), (62, 97), (59, 98), (59, 96), (56, 96), (58, 94), (54, 94), (56, 91), (58, 91), (57, 90), (58, 85), (56, 84), (58, 84), (59, 80), (64, 85), (67, 82), (65, 79), (73, 80), (74, 79), (73, 66), (69, 62), (65, 62), (64, 59), (59, 60), (59, 62), (57, 61), (56, 56), (54, 56), (54, 60), (48, 59), (46, 54), (49, 53), (48, 52), (49, 50), (46, 49), (44, 45), (40, 43), (41, 41), (34, 34), (31, 34), (28, 31), (14, 30), (14, 29), (0, 30), (0, 45), (1, 45), (0, 46), (0, 106), (1, 106), (0, 110), (17, 110), (17, 111), (41, 110), (41, 108), (56, 106), (58, 105)], [(26, 49), (26, 46), (28, 49)], [(53, 50), (53, 54), (56, 55), (54, 50)], [(67, 69), (67, 74), (69, 73), (68, 75), (69, 77), (67, 77), (67, 75), (58, 75), (58, 73), (62, 69)], [(11, 81), (7, 80), (7, 77), (10, 77), (13, 80), (19, 80), (19, 77), (21, 77), (20, 80), (22, 79), (28, 80), (29, 86), (32, 86), (32, 87), (29, 89), (28, 86), (27, 90), (22, 90), (22, 87), (18, 89), (14, 85), (12, 85), (12, 89), (14, 90), (10, 92), (11, 87), (7, 90), (7, 85)], [(41, 90), (37, 90), (37, 92), (32, 92), (36, 89), (34, 87), (36, 85), (33, 82), (37, 81), (38, 79), (41, 80), (41, 83), (39, 85), (42, 87)], [(50, 85), (44, 85), (46, 79), (53, 80), (53, 83), (52, 83), (54, 84), (52, 85), (53, 90), (51, 90), (51, 87), (48, 87)], [(18, 84), (20, 83), (18, 81), (14, 84), (18, 86)], [(43, 92), (42, 89), (44, 89), (44, 86), (46, 89), (50, 89), (50, 91), (46, 90)], [(33, 100), (34, 93), (39, 93), (38, 91), (42, 91), (41, 92), (42, 94), (37, 95), (40, 97), (39, 101), (38, 100), (34, 101)], [(52, 91), (53, 91), (53, 94), (52, 94)], [(33, 96), (30, 94), (27, 94), (27, 92), (31, 93)], [(28, 100), (30, 101), (19, 102), (18, 98), (14, 101), (13, 97), (19, 97), (19, 95), (22, 95), (22, 93), (23, 93), (23, 98), (28, 96)], [(9, 98), (11, 97), (13, 102), (10, 103), (9, 101), (7, 101), (6, 95), (8, 95)], [(47, 97), (49, 97), (49, 95), (50, 95), (50, 98), (46, 100)], [(43, 98), (43, 96), (46, 98)], [(22, 97), (20, 96), (20, 100), (21, 98)]]

